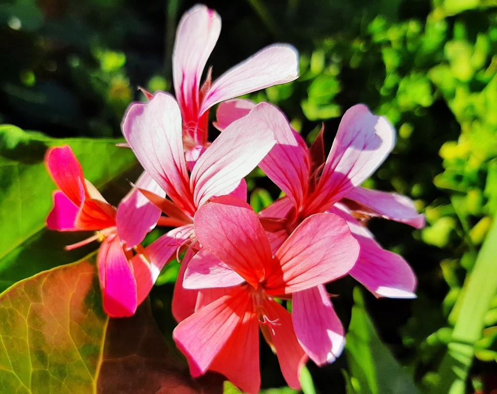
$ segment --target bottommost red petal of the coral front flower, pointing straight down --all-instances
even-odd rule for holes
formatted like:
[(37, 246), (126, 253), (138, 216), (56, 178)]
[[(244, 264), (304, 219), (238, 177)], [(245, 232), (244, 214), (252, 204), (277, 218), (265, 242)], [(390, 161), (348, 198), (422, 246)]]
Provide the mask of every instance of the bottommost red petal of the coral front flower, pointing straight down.
[(210, 368), (248, 394), (260, 390), (259, 328), (251, 305)]

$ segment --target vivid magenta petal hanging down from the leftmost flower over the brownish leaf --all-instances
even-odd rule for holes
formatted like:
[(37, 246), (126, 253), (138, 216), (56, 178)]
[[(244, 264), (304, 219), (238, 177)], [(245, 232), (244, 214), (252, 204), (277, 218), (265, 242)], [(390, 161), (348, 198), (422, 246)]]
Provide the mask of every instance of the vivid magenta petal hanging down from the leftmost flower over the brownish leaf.
[(103, 308), (111, 317), (132, 316), (137, 307), (136, 280), (118, 236), (109, 236), (97, 256)]

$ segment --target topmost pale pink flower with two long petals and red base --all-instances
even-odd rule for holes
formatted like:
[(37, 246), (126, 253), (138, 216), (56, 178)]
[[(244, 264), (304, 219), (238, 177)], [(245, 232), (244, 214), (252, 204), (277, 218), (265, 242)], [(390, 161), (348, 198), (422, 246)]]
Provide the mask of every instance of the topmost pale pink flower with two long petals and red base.
[[(221, 31), (216, 11), (197, 4), (179, 21), (172, 56), (173, 83), (183, 120), (183, 142), (189, 151), (207, 147), (209, 108), (255, 90), (298, 77), (297, 51), (285, 44), (262, 49), (211, 82), (211, 70), (200, 87), (207, 60)], [(197, 152), (198, 154), (198, 152)], [(195, 156), (195, 152), (191, 153)]]

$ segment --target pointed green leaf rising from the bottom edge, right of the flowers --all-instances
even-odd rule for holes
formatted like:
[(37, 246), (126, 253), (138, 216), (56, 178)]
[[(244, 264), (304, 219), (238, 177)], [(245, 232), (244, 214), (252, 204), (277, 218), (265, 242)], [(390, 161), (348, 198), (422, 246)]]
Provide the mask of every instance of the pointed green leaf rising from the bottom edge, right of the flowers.
[(346, 336), (345, 351), (350, 381), (359, 393), (418, 393), (411, 377), (381, 341), (368, 316), (360, 290), (354, 289), (355, 306)]

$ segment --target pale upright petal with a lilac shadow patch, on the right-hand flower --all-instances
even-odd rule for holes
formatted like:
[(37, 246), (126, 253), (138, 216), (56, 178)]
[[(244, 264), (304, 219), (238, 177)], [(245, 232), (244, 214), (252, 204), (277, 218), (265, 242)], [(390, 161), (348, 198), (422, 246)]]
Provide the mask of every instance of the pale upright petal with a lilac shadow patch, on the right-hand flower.
[(338, 127), (330, 155), (305, 214), (325, 212), (367, 179), (395, 145), (390, 122), (358, 104), (348, 109)]

